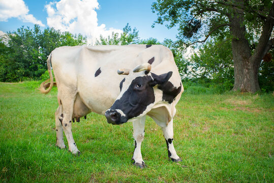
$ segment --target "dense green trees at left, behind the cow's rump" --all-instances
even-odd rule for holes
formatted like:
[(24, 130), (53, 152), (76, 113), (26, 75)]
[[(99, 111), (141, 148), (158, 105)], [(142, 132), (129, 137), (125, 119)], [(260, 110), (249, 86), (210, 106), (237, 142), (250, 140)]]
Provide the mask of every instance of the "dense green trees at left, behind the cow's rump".
[(0, 43), (0, 81), (4, 82), (39, 79), (47, 70), (46, 60), (53, 49), (86, 42), (81, 35), (61, 33), (53, 28), (42, 32), (39, 25), (33, 29), (22, 26), (7, 36), (8, 43), (4, 40)]

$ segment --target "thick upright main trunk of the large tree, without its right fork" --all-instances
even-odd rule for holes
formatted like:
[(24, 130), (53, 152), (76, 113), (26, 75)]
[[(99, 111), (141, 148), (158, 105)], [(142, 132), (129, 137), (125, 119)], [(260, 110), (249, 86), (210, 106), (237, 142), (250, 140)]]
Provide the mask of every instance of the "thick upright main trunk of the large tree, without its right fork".
[[(242, 1), (238, 1), (240, 4)], [(237, 8), (229, 17), (230, 33), (232, 35), (232, 54), (234, 62), (234, 87), (233, 90), (255, 93), (260, 90), (258, 82), (259, 66), (252, 63), (251, 49), (246, 39), (246, 27), (243, 24), (243, 11)]]

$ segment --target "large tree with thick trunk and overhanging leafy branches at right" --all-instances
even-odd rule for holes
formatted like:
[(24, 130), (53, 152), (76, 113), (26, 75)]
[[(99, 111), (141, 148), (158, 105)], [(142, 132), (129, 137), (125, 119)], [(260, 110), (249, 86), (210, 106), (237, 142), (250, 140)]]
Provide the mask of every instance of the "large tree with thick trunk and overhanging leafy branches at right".
[[(263, 56), (273, 47), (274, 3), (270, 0), (157, 0), (155, 23), (178, 25), (177, 46), (203, 43), (208, 37), (231, 39), (233, 90), (260, 90), (258, 71)], [(200, 40), (204, 38), (203, 40)]]

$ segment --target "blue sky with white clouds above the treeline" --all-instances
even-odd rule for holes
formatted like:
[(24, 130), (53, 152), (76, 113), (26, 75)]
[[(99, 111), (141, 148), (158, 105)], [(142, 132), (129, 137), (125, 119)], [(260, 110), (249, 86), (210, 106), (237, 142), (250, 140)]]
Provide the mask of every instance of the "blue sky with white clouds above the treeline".
[[(156, 24), (151, 0), (0, 0), (0, 31), (15, 31), (24, 26), (52, 26), (61, 31), (81, 33), (96, 38), (112, 31), (121, 32), (127, 23), (139, 31), (141, 39), (153, 37), (176, 40), (176, 28)], [(27, 11), (28, 10), (28, 11)]]

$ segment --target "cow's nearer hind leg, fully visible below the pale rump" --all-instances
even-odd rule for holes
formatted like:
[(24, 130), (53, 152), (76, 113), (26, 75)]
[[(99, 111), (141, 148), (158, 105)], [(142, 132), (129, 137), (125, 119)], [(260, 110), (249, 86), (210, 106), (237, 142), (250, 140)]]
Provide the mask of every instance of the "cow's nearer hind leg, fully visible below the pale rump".
[(73, 106), (76, 99), (77, 92), (67, 88), (62, 91), (62, 106), (63, 106), (63, 121), (62, 126), (65, 132), (65, 135), (68, 140), (69, 151), (74, 155), (79, 155), (80, 151), (78, 150), (75, 141), (72, 136), (71, 127), (72, 127), (72, 115), (73, 115)]

